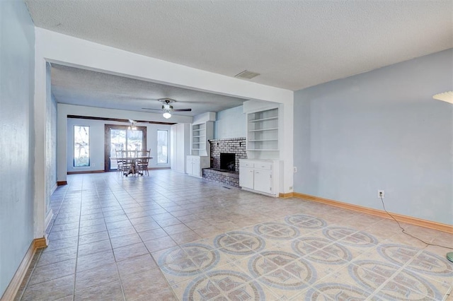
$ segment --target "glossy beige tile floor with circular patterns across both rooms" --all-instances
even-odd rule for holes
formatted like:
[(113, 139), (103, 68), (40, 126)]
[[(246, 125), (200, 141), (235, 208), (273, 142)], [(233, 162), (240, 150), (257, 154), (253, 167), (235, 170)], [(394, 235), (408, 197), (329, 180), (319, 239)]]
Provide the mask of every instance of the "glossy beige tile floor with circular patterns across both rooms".
[(171, 170), (68, 182), (16, 300), (452, 300), (449, 250), (393, 220)]

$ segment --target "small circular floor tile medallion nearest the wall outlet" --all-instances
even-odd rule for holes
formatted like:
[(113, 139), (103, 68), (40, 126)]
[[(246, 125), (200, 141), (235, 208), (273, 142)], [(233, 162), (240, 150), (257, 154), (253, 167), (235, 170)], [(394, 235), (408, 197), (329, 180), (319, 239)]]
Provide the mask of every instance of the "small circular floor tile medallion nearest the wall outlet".
[(331, 240), (341, 240), (341, 244), (354, 247), (373, 247), (378, 240), (373, 235), (347, 227), (327, 227), (323, 235)]

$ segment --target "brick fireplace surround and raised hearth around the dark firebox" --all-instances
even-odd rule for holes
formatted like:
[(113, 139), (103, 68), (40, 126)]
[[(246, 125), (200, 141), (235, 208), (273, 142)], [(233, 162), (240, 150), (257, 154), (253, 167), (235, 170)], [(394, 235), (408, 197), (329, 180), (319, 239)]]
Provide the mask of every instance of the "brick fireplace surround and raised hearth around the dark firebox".
[[(209, 142), (211, 145), (211, 167), (203, 168), (203, 178), (212, 182), (239, 187), (239, 159), (247, 158), (246, 138), (212, 139)], [(234, 153), (236, 155), (234, 171), (220, 170), (220, 153)]]

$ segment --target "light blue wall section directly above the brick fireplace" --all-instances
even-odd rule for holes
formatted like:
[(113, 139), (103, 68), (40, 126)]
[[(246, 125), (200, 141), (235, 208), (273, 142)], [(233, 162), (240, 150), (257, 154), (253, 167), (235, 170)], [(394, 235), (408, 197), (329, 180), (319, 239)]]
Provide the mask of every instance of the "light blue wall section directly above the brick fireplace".
[(214, 139), (240, 138), (246, 136), (246, 114), (242, 106), (217, 112), (214, 122)]

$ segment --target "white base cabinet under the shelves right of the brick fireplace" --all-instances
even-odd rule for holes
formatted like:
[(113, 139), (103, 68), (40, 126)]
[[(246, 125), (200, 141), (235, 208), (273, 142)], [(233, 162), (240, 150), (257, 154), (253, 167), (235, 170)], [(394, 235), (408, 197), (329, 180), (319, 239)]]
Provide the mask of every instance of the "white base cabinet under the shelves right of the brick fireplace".
[(278, 196), (280, 161), (239, 160), (239, 186), (245, 190)]

